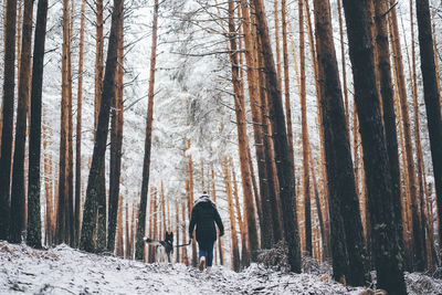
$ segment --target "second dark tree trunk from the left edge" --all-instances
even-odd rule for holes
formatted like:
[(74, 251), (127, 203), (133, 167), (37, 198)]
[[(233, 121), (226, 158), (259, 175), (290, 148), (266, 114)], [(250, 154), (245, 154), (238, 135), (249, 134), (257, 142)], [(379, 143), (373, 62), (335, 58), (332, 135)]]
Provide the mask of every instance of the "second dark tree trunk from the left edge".
[(30, 96), (32, 14), (33, 1), (25, 0), (19, 72), (19, 103), (17, 108), (15, 144), (12, 164), (11, 228), (9, 236), (9, 241), (12, 243), (20, 243), (22, 240), (22, 232), (25, 230), (24, 146), (27, 141), (27, 115)]

